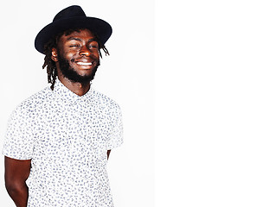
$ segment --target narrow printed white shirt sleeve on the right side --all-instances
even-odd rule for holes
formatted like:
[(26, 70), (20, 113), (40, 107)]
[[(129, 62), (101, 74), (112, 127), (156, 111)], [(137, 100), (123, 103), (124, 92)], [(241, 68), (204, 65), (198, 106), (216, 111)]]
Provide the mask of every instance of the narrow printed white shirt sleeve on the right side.
[(107, 143), (107, 149), (119, 147), (124, 142), (122, 112), (119, 107), (113, 112), (111, 119), (113, 126)]

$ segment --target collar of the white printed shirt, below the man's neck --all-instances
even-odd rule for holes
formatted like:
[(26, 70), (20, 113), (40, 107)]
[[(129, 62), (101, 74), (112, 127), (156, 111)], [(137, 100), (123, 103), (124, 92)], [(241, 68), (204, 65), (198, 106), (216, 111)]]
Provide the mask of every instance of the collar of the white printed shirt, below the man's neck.
[(94, 90), (90, 86), (89, 91), (86, 92), (83, 96), (78, 96), (73, 91), (70, 91), (65, 85), (61, 83), (61, 81), (56, 78), (54, 84), (54, 93), (61, 97), (61, 99), (69, 100), (69, 101), (83, 101), (88, 100), (90, 101), (93, 98)]

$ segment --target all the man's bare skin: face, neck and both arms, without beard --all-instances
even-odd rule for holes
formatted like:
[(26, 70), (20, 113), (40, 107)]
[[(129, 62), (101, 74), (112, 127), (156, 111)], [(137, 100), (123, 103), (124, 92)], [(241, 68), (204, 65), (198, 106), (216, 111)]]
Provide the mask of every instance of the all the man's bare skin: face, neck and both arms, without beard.
[[(90, 82), (80, 84), (70, 81), (61, 73), (58, 63), (58, 52), (61, 56), (68, 60), (69, 65), (74, 68), (80, 76), (86, 76), (92, 73), (95, 67), (93, 58), (99, 60), (99, 44), (95, 41), (95, 37), (88, 29), (82, 29), (80, 32), (74, 32), (69, 35), (62, 35), (58, 42), (58, 49), (52, 49), (52, 60), (54, 60), (58, 72), (58, 78), (70, 91), (78, 96), (83, 96), (90, 89)], [(93, 58), (92, 58), (93, 57)], [(74, 61), (72, 61), (74, 60)], [(92, 62), (91, 66), (81, 66), (80, 62)], [(107, 159), (111, 150), (107, 150)], [(29, 178), (31, 160), (14, 160), (8, 157), (4, 158), (5, 164), (5, 186), (14, 200), (16, 207), (26, 207), (29, 197), (29, 188), (26, 180)]]

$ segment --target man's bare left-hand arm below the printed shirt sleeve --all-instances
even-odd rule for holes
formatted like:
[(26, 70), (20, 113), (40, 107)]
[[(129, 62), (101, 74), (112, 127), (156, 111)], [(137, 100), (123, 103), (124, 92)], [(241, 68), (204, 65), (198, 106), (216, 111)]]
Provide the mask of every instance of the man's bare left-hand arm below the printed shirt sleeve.
[(29, 188), (26, 180), (29, 178), (31, 160), (15, 160), (4, 157), (5, 187), (16, 207), (26, 207), (29, 198)]

